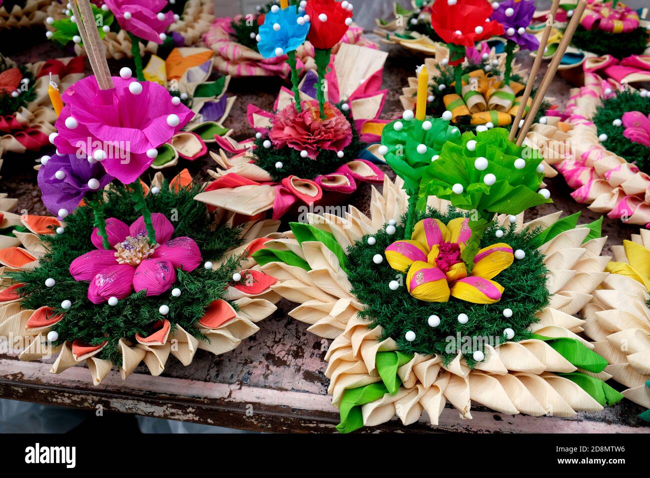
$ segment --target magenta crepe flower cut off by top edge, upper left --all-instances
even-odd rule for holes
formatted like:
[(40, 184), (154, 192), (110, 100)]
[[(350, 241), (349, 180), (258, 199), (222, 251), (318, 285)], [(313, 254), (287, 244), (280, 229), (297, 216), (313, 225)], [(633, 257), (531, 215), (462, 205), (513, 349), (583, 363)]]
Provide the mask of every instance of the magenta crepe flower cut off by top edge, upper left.
[(123, 30), (159, 45), (162, 44), (161, 33), (174, 23), (174, 12), (158, 16), (167, 0), (105, 0), (104, 3)]

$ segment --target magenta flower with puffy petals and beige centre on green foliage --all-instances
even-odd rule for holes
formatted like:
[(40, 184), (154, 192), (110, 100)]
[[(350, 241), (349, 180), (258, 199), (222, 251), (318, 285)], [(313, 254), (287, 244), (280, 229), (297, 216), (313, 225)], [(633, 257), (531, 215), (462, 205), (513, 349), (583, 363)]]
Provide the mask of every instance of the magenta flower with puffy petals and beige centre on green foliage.
[(114, 217), (107, 219), (109, 243), (114, 250), (102, 248), (97, 228), (90, 240), (96, 250), (86, 252), (70, 264), (77, 281), (89, 281), (88, 300), (94, 304), (110, 297), (124, 299), (136, 292), (161, 295), (176, 282), (176, 269), (191, 272), (201, 263), (201, 251), (190, 237), (175, 237), (174, 226), (161, 213), (151, 215), (156, 244), (148, 241), (144, 218), (131, 226)]

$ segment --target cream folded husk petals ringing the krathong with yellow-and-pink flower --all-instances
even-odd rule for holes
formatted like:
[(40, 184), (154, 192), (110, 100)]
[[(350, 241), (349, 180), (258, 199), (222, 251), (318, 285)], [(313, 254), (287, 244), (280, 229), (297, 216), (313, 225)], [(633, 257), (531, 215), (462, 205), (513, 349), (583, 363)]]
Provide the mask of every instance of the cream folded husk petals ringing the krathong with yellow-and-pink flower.
[[(369, 217), (352, 207), (344, 219), (328, 215), (308, 215), (307, 219), (331, 232), (346, 250), (363, 235), (383, 228), (389, 219), (400, 219), (408, 204), (408, 197), (400, 185), (401, 181), (393, 183), (385, 179), (382, 193), (372, 189)], [(428, 203), (443, 211), (448, 206), (437, 198), (430, 198)], [(528, 223), (519, 217), (517, 224), (519, 230), (548, 228), (560, 219), (560, 215), (554, 213)], [(609, 275), (604, 272), (609, 258), (600, 256), (603, 240), (592, 239), (583, 244), (587, 234), (586, 228), (569, 230), (539, 248), (547, 256), (549, 289), (552, 287), (555, 295), (551, 297), (551, 304), (539, 311), (539, 321), (531, 330), (551, 338), (575, 338), (588, 347), (595, 347), (577, 334), (588, 326), (593, 328), (595, 313), (602, 308), (591, 311), (590, 316), (583, 319), (573, 314), (590, 305), (594, 297), (592, 291), (606, 291), (599, 287)], [(290, 236), (287, 234), (287, 237)], [(279, 244), (288, 247), (289, 243)], [(291, 242), (292, 250), (308, 261), (312, 271), (284, 263), (268, 263), (261, 270), (278, 279), (272, 286), (275, 292), (298, 302), (299, 305), (289, 312), (291, 317), (309, 324), (310, 332), (333, 339), (325, 356), (328, 362), (325, 375), (330, 378), (328, 392), (333, 405), (337, 406), (346, 389), (379, 382), (376, 354), (395, 351), (397, 346), (393, 339), (384, 338), (381, 327), (370, 329), (369, 321), (359, 318), (357, 312), (363, 310), (363, 304), (351, 295), (350, 282), (339, 259), (328, 248), (317, 241), (302, 243), (300, 251), (295, 250), (295, 246)], [(604, 337), (603, 341), (608, 343)], [(495, 349), (486, 345), (485, 351), (485, 360), (474, 370), (460, 354), (446, 365), (438, 356), (415, 354), (398, 368), (402, 385), (396, 395), (387, 393), (361, 406), (365, 425), (384, 423), (395, 415), (408, 424), (419, 419), (425, 410), (430, 423), (436, 424), (447, 402), (462, 418), (468, 419), (471, 418), (472, 401), (504, 414), (533, 416), (573, 416), (578, 410), (600, 409), (577, 385), (553, 373), (574, 372), (576, 367), (545, 341), (529, 339), (505, 343)]]

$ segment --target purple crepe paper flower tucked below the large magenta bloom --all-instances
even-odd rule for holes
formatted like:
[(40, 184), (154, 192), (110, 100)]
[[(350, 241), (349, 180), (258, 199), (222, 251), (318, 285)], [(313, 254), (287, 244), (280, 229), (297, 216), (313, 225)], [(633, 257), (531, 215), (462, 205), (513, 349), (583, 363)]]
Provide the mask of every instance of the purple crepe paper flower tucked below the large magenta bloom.
[[(59, 171), (65, 174), (63, 179), (57, 178)], [(88, 186), (91, 179), (98, 181), (92, 181), (94, 188)], [(113, 179), (99, 163), (88, 163), (75, 154), (55, 153), (38, 170), (38, 187), (43, 194), (43, 203), (57, 215), (60, 209), (72, 213), (87, 193), (102, 189)]]

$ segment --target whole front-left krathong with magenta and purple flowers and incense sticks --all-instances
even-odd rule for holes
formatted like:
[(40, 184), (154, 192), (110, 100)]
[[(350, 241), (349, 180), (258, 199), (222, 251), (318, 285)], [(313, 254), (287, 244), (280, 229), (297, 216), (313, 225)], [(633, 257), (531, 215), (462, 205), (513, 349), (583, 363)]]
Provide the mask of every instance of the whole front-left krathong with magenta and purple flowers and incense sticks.
[(188, 365), (198, 349), (230, 351), (275, 310), (263, 296), (274, 299), (276, 280), (250, 254), (279, 223), (242, 222), (194, 200), (209, 185), (187, 170), (138, 178), (194, 113), (128, 68), (111, 77), (88, 0), (73, 8), (95, 74), (64, 93), (50, 137), (57, 153), (40, 161), (58, 218), (0, 213), (18, 241), (0, 249), (0, 308), (28, 317), (3, 321), (1, 334), (22, 360), (58, 353), (53, 373), (86, 362), (94, 384), (114, 365), (122, 378), (142, 361), (160, 375), (169, 354)]

